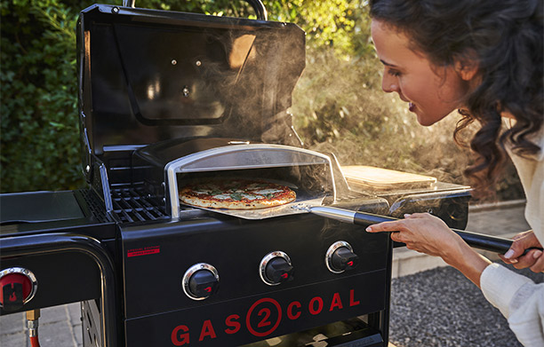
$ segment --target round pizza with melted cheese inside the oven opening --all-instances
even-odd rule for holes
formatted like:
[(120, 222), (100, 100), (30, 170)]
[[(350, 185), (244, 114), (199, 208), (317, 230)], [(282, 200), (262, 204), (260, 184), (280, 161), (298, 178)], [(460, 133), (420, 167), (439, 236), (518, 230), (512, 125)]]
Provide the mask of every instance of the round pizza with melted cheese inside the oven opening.
[(266, 209), (296, 198), (288, 186), (260, 179), (209, 179), (185, 185), (180, 190), (183, 203), (212, 209)]

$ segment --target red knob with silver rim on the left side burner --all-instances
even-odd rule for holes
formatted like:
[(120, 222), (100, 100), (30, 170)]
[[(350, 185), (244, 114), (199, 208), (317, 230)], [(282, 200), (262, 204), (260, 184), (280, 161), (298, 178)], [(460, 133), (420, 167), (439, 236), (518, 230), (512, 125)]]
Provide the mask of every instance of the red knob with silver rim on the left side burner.
[(22, 267), (10, 267), (0, 272), (0, 306), (5, 312), (20, 310), (36, 294), (34, 273)]

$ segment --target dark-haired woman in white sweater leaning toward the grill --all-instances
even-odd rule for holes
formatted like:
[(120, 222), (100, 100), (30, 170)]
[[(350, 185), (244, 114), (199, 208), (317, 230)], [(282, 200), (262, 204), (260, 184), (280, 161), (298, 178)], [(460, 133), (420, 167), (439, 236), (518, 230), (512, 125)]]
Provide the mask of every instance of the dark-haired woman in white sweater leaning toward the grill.
[[(466, 170), (476, 193), (492, 186), (510, 155), (524, 185), (532, 231), (501, 256), (518, 269), (544, 271), (544, 130), (541, 0), (374, 0), (372, 39), (385, 71), (382, 89), (428, 126), (459, 109), (454, 134), (481, 125)], [(506, 121), (506, 122), (505, 122)], [(504, 126), (506, 123), (507, 126)], [(500, 225), (498, 225), (500, 227)], [(462, 272), (508, 319), (525, 346), (544, 346), (544, 283), (492, 264), (428, 214), (371, 225), (407, 248), (440, 256)]]

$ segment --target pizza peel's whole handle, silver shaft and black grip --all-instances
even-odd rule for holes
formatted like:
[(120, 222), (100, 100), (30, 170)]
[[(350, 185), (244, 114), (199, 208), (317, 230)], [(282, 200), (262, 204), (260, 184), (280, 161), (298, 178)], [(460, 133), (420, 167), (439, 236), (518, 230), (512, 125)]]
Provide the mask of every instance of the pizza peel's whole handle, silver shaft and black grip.
[[(316, 206), (308, 208), (309, 212), (314, 213), (321, 217), (332, 218), (340, 220), (341, 222), (351, 223), (355, 225), (373, 225), (381, 222), (390, 222), (398, 220), (394, 217), (385, 217), (380, 215), (374, 215), (372, 213), (357, 212), (348, 209), (339, 209), (328, 206)], [(463, 241), (467, 242), (470, 247), (488, 250), (495, 253), (504, 254), (512, 246), (512, 240), (505, 238), (485, 235), (483, 233), (471, 233), (464, 230), (452, 229), (453, 232), (460, 235)], [(531, 249), (542, 248), (527, 248), (524, 254)]]

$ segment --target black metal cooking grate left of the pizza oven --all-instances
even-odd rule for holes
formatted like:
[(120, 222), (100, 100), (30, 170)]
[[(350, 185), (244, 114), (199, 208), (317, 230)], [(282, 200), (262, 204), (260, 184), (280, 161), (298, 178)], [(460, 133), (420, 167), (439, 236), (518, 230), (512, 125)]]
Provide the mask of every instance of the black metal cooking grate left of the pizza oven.
[(114, 188), (111, 190), (113, 214), (121, 223), (144, 222), (169, 218), (164, 209), (143, 188)]

